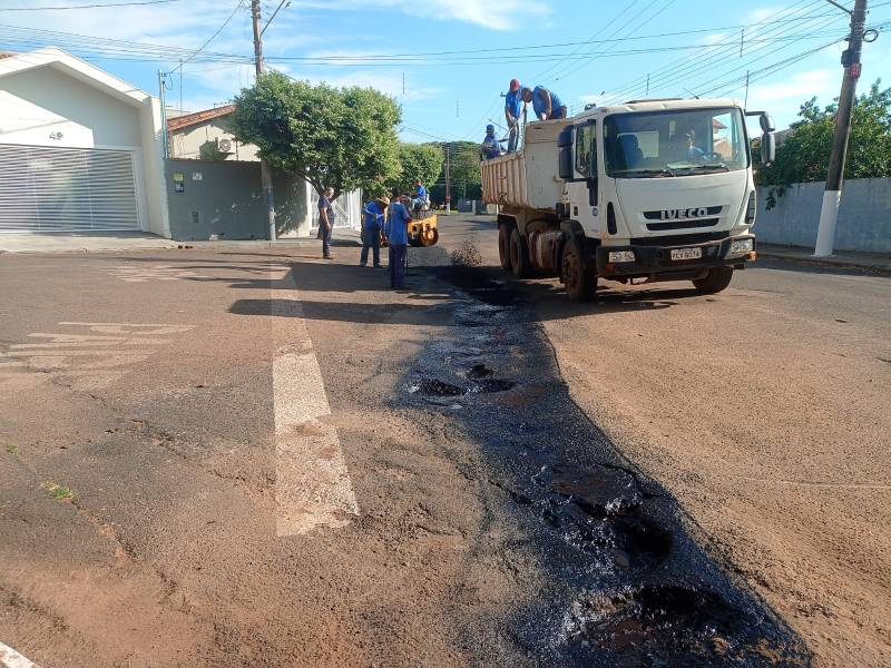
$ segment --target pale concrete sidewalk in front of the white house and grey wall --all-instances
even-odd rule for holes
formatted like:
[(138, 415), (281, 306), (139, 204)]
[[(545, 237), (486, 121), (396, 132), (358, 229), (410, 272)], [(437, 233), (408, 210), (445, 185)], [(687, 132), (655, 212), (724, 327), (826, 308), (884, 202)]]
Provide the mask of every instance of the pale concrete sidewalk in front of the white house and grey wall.
[[(333, 246), (361, 244), (358, 229), (334, 230)], [(0, 253), (119, 253), (159, 248), (204, 248), (256, 250), (302, 247), (320, 244), (315, 237), (291, 239), (225, 239), (215, 242), (176, 242), (144, 232), (0, 234)]]

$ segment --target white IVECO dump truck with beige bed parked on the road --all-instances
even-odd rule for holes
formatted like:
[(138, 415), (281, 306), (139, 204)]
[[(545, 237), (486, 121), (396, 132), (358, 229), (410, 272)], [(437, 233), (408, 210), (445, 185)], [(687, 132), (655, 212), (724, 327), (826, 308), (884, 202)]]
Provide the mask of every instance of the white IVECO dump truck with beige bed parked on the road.
[(522, 150), (481, 165), (483, 199), (500, 206), (501, 266), (559, 276), (576, 301), (598, 278), (724, 289), (755, 258), (746, 116), (760, 117), (770, 164), (773, 120), (732, 99), (639, 100), (529, 124)]

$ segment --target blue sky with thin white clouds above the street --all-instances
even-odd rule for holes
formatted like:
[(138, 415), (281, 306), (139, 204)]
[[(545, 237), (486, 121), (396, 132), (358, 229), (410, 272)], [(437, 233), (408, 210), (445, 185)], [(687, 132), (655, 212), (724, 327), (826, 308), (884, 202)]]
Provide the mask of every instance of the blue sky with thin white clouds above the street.
[[(0, 49), (59, 46), (157, 95), (157, 70), (174, 69), (232, 17), (183, 68), (184, 106), (212, 107), (252, 82), (249, 0), (242, 7), (237, 0), (164, 0), (9, 11), (123, 1), (0, 0)], [(870, 4), (869, 24), (891, 22), (891, 1)], [(278, 0), (263, 0), (264, 16), (277, 6)], [(499, 95), (512, 77), (544, 85), (580, 110), (586, 101), (645, 97), (647, 75), (650, 97), (742, 99), (750, 71), (748, 107), (772, 111), (785, 127), (803, 100), (815, 95), (826, 104), (838, 95), (843, 46), (816, 49), (842, 37), (846, 26), (846, 16), (825, 0), (292, 0), (264, 41), (270, 66), (293, 77), (374, 86), (393, 95), (403, 107), (405, 140), (479, 140), (486, 122), (502, 118)], [(41, 32), (47, 30), (95, 39)], [(669, 35), (677, 32), (686, 35)], [(460, 53), (434, 55), (442, 51)], [(398, 56), (381, 58), (390, 55)], [(863, 60), (861, 89), (877, 77), (891, 85), (890, 36), (866, 45)], [(168, 104), (178, 106), (178, 72), (169, 80)]]

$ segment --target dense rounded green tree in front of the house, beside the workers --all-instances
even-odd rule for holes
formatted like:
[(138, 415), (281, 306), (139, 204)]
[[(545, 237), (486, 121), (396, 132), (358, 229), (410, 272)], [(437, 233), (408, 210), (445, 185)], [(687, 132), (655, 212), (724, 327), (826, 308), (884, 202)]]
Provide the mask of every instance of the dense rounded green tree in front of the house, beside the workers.
[(262, 158), (301, 175), (319, 194), (331, 186), (336, 198), (355, 188), (384, 191), (399, 173), (401, 120), (395, 100), (372, 88), (313, 86), (270, 72), (235, 98), (229, 127)]

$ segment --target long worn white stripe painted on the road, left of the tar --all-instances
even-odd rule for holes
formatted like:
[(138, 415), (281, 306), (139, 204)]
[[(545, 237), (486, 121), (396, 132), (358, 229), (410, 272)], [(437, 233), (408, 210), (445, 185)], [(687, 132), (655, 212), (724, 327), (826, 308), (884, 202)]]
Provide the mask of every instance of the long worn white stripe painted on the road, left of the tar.
[[(288, 278), (288, 281), (292, 281)], [(293, 284), (293, 281), (292, 281)], [(359, 514), (337, 430), (296, 289), (271, 291), (275, 412), (275, 531), (341, 528)], [(286, 342), (286, 343), (285, 343)]]

